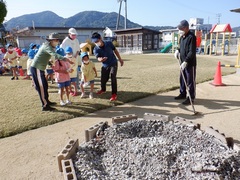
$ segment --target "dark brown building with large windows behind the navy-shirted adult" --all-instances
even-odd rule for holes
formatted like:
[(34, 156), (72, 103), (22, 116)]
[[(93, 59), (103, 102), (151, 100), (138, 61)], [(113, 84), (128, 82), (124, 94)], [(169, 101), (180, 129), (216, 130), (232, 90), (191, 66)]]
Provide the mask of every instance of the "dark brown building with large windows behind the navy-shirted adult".
[(159, 50), (159, 34), (161, 32), (144, 27), (114, 30), (121, 53), (139, 54), (157, 52)]

